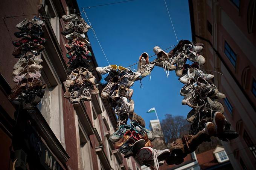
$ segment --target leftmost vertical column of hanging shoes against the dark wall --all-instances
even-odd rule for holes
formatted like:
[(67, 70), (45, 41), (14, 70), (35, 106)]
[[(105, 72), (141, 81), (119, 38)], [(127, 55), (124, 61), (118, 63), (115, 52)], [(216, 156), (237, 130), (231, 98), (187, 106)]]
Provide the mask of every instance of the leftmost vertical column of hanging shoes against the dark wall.
[(12, 88), (8, 99), (15, 105), (22, 105), (23, 109), (33, 109), (43, 98), (46, 88), (46, 84), (40, 80), (43, 60), (37, 57), (46, 43), (46, 39), (41, 37), (44, 33), (42, 24), (40, 18), (25, 18), (16, 25), (21, 31), (14, 33), (17, 38), (21, 38), (12, 42), (18, 47), (12, 53), (18, 58), (12, 72), (13, 81), (17, 84)]

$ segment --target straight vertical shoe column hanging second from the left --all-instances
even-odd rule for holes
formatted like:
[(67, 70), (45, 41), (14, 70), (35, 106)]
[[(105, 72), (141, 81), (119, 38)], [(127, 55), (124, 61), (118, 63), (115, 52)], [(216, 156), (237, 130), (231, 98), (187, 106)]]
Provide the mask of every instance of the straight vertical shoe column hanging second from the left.
[(69, 98), (72, 104), (79, 103), (81, 100), (91, 101), (91, 95), (99, 94), (96, 87), (96, 78), (91, 71), (93, 66), (90, 65), (91, 52), (88, 50), (90, 42), (85, 33), (91, 27), (83, 18), (75, 14), (63, 15), (65, 29), (62, 35), (66, 35), (68, 43), (64, 46), (67, 48), (67, 58), (69, 59), (67, 68), (67, 80), (65, 86), (69, 89), (65, 92), (64, 97)]

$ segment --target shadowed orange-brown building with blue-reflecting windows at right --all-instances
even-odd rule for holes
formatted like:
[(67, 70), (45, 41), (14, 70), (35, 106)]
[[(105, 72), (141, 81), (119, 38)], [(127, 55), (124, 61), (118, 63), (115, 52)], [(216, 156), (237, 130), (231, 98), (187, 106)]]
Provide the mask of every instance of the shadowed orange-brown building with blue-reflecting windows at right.
[(224, 116), (239, 137), (223, 142), (234, 169), (256, 167), (256, 1), (189, 0), (192, 40), (206, 47), (204, 70), (227, 98)]

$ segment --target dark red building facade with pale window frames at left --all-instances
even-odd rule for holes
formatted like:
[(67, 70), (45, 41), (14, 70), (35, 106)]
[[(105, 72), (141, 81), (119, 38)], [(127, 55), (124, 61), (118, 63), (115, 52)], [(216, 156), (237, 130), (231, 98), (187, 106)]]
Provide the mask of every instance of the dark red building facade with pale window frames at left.
[[(90, 102), (70, 104), (63, 97), (67, 88), (67, 40), (61, 35), (64, 21), (61, 16), (79, 13), (75, 0), (3, 0), (0, 7), (2, 27), (0, 42), (0, 150), (1, 169), (54, 170), (138, 170), (134, 158), (124, 159), (114, 149), (108, 137), (116, 130), (116, 116), (107, 101), (99, 95)], [(31, 15), (32, 14), (32, 15)], [(12, 68), (18, 59), (12, 56), (17, 40), (15, 27), (24, 18), (43, 19), (43, 37), (47, 39), (40, 54), (43, 69), (41, 79), (47, 84), (43, 99), (33, 111), (15, 107), (7, 98), (11, 88)], [(90, 48), (92, 65), (97, 62)], [(101, 75), (93, 71), (99, 81)], [(103, 87), (98, 84), (101, 92)]]

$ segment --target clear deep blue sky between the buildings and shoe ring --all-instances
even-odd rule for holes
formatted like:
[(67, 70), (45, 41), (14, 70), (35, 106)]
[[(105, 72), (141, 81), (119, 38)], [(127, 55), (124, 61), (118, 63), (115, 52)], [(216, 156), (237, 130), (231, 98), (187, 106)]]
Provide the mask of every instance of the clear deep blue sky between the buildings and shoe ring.
[[(82, 8), (120, 1), (78, 0), (78, 5)], [(188, 1), (166, 0), (166, 3), (178, 41), (191, 41)], [(85, 11), (110, 64), (127, 67), (136, 63), (143, 52), (153, 55), (156, 45), (166, 49), (177, 44), (164, 0), (135, 0)], [(82, 17), (85, 18), (85, 15)], [(107, 66), (107, 60), (91, 30), (88, 31), (88, 37), (98, 65)], [(137, 69), (137, 65), (134, 68)], [(146, 113), (151, 107), (156, 108), (160, 120), (165, 118), (165, 114), (186, 116), (190, 110), (190, 107), (181, 105), (183, 97), (180, 89), (183, 84), (175, 71), (169, 74), (167, 78), (163, 68), (155, 66), (151, 80), (149, 76), (143, 78), (143, 88), (140, 88), (139, 81), (132, 87), (135, 112), (145, 119), (146, 127), (149, 127), (149, 120), (156, 119), (154, 113)]]

